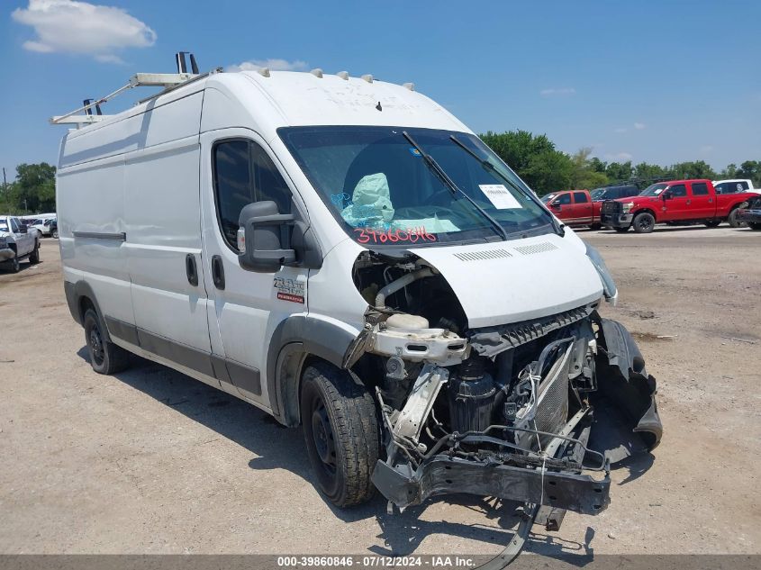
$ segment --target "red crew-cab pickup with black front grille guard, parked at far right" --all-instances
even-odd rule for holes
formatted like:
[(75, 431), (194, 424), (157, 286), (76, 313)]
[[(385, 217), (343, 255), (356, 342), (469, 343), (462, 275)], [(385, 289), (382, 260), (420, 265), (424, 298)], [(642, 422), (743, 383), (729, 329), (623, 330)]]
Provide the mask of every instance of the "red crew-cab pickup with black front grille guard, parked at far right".
[(650, 233), (657, 223), (703, 222), (709, 228), (740, 222), (738, 208), (756, 194), (719, 194), (711, 180), (672, 180), (650, 185), (640, 195), (602, 203), (600, 222), (616, 231)]

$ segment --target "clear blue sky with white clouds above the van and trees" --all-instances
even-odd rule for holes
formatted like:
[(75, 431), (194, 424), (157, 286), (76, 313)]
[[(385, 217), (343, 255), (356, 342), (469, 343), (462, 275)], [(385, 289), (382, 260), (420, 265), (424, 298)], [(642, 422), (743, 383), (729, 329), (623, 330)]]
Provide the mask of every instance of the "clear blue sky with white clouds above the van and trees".
[[(102, 4), (99, 4), (102, 2)], [(761, 2), (0, 3), (0, 166), (55, 162), (48, 118), (136, 71), (279, 60), (403, 83), (476, 132), (603, 160), (761, 159)], [(121, 110), (137, 90), (106, 105)], [(117, 103), (118, 102), (118, 103)]]

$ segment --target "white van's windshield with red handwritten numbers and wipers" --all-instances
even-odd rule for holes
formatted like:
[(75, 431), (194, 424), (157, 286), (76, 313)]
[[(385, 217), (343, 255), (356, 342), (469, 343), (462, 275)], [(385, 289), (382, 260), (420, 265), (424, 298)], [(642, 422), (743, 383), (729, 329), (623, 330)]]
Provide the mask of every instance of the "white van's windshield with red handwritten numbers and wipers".
[[(437, 176), (404, 132), (470, 200)], [(278, 133), (359, 243), (433, 245), (553, 231), (549, 213), (529, 187), (474, 135), (356, 126), (287, 127)]]

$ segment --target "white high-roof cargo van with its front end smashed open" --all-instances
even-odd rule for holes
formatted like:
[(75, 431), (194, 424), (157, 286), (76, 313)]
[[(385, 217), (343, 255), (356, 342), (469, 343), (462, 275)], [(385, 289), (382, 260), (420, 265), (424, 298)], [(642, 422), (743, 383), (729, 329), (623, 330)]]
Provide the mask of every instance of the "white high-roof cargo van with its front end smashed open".
[(216, 72), (83, 122), (58, 216), (95, 371), (138, 354), (301, 425), (340, 506), (475, 493), (550, 525), (657, 445), (602, 258), (412, 85)]

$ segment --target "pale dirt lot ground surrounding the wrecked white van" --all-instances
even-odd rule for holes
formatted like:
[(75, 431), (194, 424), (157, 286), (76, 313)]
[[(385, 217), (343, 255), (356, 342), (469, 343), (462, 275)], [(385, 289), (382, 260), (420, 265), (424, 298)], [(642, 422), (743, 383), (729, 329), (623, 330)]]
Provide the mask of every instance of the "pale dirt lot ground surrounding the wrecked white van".
[[(614, 473), (612, 504), (539, 527), (529, 551), (761, 552), (761, 232), (581, 232), (621, 290), (665, 426)], [(332, 509), (300, 430), (168, 368), (96, 375), (63, 296), (57, 243), (0, 275), (0, 552), (471, 553), (516, 519), (449, 497), (403, 515)], [(663, 338), (661, 338), (663, 337)]]

